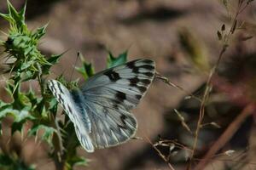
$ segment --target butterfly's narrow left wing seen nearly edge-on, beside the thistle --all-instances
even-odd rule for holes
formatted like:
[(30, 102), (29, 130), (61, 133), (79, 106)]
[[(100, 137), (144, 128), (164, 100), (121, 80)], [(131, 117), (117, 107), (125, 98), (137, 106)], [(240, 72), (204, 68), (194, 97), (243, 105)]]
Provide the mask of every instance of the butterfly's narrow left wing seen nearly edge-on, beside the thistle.
[(86, 114), (83, 114), (83, 107), (80, 107), (77, 102), (80, 101), (77, 99), (78, 96), (70, 93), (61, 82), (55, 80), (49, 80), (48, 87), (73, 122), (80, 144), (86, 151), (93, 152), (94, 146), (89, 136), (90, 119), (86, 117)]

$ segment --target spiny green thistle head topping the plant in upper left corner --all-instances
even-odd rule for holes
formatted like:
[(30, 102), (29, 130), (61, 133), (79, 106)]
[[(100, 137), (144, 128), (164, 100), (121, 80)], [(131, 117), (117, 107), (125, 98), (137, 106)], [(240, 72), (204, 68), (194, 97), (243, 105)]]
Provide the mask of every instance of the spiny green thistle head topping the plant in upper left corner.
[(5, 53), (13, 58), (10, 65), (15, 84), (25, 82), (42, 74), (49, 74), (49, 69), (55, 64), (58, 56), (49, 59), (51, 63), (38, 50), (38, 40), (44, 36), (47, 25), (37, 31), (27, 30), (25, 23), (26, 5), (18, 12), (8, 1), (9, 14), (0, 14), (10, 24), (9, 36), (2, 43)]

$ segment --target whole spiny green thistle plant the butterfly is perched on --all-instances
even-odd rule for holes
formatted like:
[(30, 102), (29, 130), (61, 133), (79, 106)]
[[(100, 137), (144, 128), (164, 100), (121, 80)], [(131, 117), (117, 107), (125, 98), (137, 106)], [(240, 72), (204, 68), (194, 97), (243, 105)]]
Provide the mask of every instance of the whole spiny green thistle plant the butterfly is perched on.
[[(7, 40), (2, 40), (0, 43), (7, 58), (6, 73), (9, 73), (9, 76), (5, 89), (10, 102), (0, 100), (0, 139), (3, 139), (1, 123), (7, 117), (11, 117), (13, 121), (10, 136), (15, 132), (21, 133), (21, 136), (26, 138), (38, 139), (39, 136), (41, 141), (48, 144), (49, 158), (55, 162), (56, 169), (67, 170), (73, 169), (75, 165), (86, 165), (87, 160), (77, 154), (76, 149), (80, 144), (73, 124), (69, 122), (66, 114), (64, 121), (58, 118), (58, 104), (49, 93), (45, 79), (50, 73), (50, 68), (58, 63), (62, 54), (49, 57), (41, 54), (38, 50), (38, 42), (44, 36), (47, 25), (38, 28), (37, 31), (30, 31), (25, 22), (26, 5), (18, 12), (9, 1), (7, 3), (9, 13), (0, 16), (9, 22), (9, 32)], [(127, 52), (117, 58), (109, 52), (108, 67), (122, 64), (126, 58)], [(80, 59), (82, 66), (77, 67), (76, 70), (87, 79), (94, 74), (94, 68), (82, 57)], [(56, 79), (69, 88), (78, 86), (78, 81), (67, 82), (62, 76)], [(40, 94), (36, 94), (33, 88), (29, 91), (20, 90), (21, 86), (32, 80), (38, 83)], [(27, 122), (32, 126), (25, 133)], [(1, 144), (1, 169), (35, 169), (34, 166), (26, 165), (18, 150), (8, 150), (4, 147), (5, 144)]]

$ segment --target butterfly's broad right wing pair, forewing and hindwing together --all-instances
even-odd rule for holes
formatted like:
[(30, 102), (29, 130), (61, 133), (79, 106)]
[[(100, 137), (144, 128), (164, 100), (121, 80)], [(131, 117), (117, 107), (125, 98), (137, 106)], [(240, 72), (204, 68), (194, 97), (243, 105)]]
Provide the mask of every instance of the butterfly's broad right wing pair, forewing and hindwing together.
[(137, 121), (129, 111), (147, 91), (154, 67), (152, 60), (137, 59), (99, 72), (84, 83), (81, 93), (95, 148), (108, 148), (134, 136)]

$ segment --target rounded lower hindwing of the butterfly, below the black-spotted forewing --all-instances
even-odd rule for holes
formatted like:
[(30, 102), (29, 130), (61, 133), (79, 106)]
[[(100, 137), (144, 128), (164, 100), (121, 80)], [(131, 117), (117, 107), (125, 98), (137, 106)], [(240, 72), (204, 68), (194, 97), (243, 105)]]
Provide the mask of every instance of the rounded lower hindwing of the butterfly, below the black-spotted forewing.
[(134, 136), (137, 121), (128, 111), (110, 108), (98, 102), (86, 102), (92, 120), (90, 138), (96, 148), (121, 144)]

